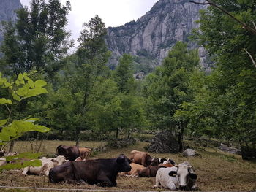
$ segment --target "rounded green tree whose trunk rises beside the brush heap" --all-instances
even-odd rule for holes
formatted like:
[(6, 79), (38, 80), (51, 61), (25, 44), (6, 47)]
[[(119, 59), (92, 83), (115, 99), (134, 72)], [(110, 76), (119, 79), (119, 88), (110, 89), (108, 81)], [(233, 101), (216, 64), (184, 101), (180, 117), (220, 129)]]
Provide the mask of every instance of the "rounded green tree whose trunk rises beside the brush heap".
[(188, 122), (185, 118), (176, 118), (175, 114), (181, 104), (193, 99), (189, 81), (198, 64), (197, 50), (188, 50), (186, 44), (177, 42), (162, 66), (146, 77), (148, 120), (151, 126), (167, 129), (178, 137), (180, 151), (183, 151), (183, 134)]

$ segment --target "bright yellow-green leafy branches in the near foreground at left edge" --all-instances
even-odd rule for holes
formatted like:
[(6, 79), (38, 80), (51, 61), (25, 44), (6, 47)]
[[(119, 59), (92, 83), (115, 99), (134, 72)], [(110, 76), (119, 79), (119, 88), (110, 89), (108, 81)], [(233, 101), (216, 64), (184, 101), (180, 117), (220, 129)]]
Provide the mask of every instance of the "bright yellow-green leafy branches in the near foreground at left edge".
[[(0, 73), (0, 88), (8, 90), (8, 98), (0, 98), (0, 104), (4, 106), (7, 113), (1, 112), (0, 120), (0, 150), (3, 149), (9, 142), (18, 139), (28, 131), (39, 131), (45, 133), (49, 131), (49, 128), (35, 124), (39, 119), (37, 118), (25, 118), (23, 120), (15, 119), (13, 111), (15, 111), (15, 105), (20, 101), (29, 99), (34, 96), (39, 96), (42, 93), (48, 93), (43, 88), (46, 82), (43, 80), (36, 80), (35, 82), (29, 78), (29, 74), (19, 74), (17, 80), (8, 80), (5, 77), (1, 77)], [(7, 158), (7, 161), (11, 161), (15, 158), (37, 158), (39, 154), (31, 155), (29, 153), (20, 154)], [(40, 161), (25, 161), (22, 162), (19, 159), (16, 164), (9, 164), (7, 166), (1, 166), (0, 171), (3, 169), (17, 169), (26, 166), (40, 166)]]

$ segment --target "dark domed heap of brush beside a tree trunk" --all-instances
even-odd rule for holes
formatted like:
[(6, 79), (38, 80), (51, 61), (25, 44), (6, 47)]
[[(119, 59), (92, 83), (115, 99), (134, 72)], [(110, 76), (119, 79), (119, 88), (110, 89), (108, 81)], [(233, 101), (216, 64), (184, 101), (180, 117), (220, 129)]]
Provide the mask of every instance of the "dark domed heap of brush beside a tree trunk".
[(155, 135), (148, 151), (151, 153), (178, 153), (178, 141), (170, 131), (162, 131)]

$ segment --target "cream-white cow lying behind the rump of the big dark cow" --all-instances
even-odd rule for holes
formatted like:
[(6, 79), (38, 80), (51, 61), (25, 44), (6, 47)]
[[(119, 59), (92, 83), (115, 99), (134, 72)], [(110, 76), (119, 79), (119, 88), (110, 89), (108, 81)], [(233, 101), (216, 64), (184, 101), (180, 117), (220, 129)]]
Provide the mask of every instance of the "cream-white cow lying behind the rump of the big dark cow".
[(51, 168), (66, 162), (65, 157), (62, 155), (57, 156), (57, 158), (43, 157), (39, 160), (42, 162), (41, 166), (27, 166), (23, 168), (22, 174), (27, 175), (29, 172), (30, 174), (45, 174), (48, 176)]

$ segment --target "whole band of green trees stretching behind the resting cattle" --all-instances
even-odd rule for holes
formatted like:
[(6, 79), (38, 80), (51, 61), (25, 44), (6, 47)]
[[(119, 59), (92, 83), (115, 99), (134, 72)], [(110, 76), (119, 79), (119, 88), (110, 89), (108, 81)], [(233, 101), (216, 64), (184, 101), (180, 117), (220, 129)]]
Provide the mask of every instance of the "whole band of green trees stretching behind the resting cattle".
[(132, 55), (110, 69), (107, 28), (99, 16), (83, 24), (70, 53), (69, 1), (32, 0), (30, 9), (18, 9), (17, 23), (3, 28), (0, 148), (11, 144), (12, 151), (17, 139), (118, 146), (170, 131), (180, 152), (184, 137), (203, 137), (237, 144), (243, 159), (256, 158), (255, 1), (214, 2), (236, 20), (210, 4), (189, 37), (206, 48), (211, 71), (200, 66), (197, 49), (177, 42), (142, 80), (133, 77), (138, 67)]

